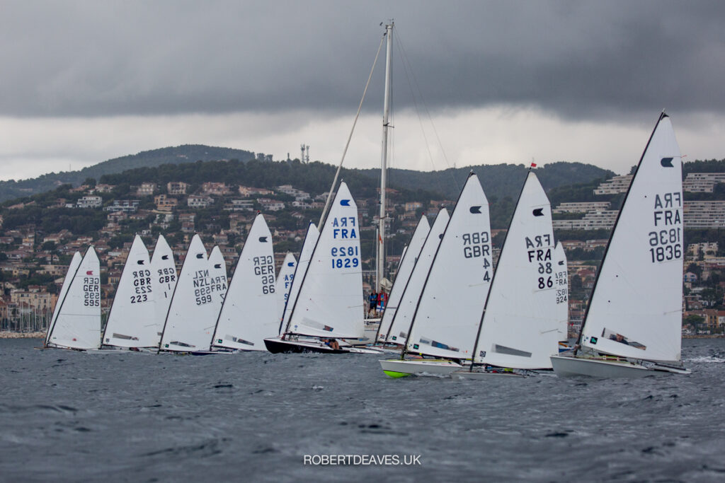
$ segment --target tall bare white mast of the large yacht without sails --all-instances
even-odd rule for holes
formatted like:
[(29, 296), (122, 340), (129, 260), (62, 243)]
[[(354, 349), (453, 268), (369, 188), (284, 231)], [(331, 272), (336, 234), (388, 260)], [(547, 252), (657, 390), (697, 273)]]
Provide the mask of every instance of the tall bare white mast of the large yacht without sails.
[(392, 62), (393, 62), (393, 25), (390, 22), (385, 25), (386, 59), (385, 59), (385, 100), (383, 103), (383, 146), (381, 149), (381, 170), (380, 170), (380, 220), (378, 226), (378, 249), (376, 258), (375, 286), (376, 292), (381, 292), (381, 281), (385, 276), (385, 188), (387, 184), (386, 175), (388, 169), (388, 130), (390, 127), (390, 94), (392, 89)]

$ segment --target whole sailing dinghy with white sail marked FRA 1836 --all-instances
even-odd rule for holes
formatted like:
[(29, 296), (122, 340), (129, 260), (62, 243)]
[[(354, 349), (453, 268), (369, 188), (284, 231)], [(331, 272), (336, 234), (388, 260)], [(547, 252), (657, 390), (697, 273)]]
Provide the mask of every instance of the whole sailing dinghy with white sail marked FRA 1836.
[(682, 367), (682, 157), (660, 114), (614, 224), (561, 376), (642, 377)]

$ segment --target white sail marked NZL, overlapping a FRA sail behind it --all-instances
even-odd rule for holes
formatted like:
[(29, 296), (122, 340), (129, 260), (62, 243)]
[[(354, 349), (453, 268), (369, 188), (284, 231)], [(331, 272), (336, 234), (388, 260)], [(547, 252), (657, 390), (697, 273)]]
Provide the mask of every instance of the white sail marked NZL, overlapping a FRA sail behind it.
[(199, 235), (191, 238), (181, 273), (174, 289), (161, 337), (161, 350), (188, 352), (208, 350), (212, 327), (210, 312), (215, 311), (215, 287), (207, 261), (207, 250)]

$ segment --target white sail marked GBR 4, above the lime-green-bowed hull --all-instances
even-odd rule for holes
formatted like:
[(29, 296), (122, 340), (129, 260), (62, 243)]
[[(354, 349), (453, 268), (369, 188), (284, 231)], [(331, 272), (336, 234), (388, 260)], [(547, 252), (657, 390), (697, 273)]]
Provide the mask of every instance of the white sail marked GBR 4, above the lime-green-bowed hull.
[(443, 233), (418, 307), (407, 350), (471, 359), (493, 275), (489, 202), (479, 177), (465, 182)]

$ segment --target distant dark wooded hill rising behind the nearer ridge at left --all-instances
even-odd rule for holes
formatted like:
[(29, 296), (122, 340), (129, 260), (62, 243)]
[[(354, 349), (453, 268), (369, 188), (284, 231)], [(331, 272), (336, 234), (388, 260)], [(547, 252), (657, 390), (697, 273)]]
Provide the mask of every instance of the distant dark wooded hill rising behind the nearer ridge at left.
[(241, 149), (218, 148), (201, 144), (186, 144), (168, 148), (141, 151), (120, 158), (109, 159), (94, 164), (80, 171), (62, 171), (48, 173), (28, 180), (0, 181), (0, 201), (7, 201), (21, 196), (30, 196), (53, 190), (59, 185), (80, 185), (83, 180), (91, 177), (99, 179), (103, 175), (124, 172), (128, 169), (140, 167), (157, 167), (162, 164), (181, 164), (194, 161), (212, 161), (214, 159), (239, 159), (248, 161), (254, 159), (254, 153)]

